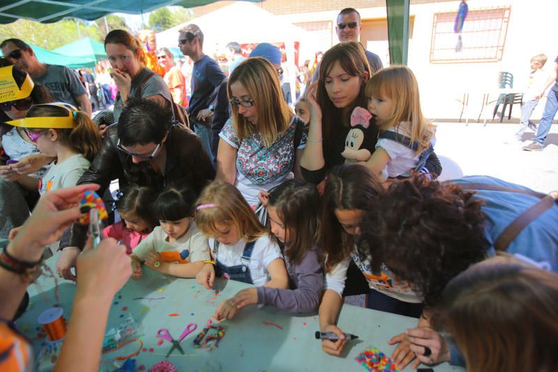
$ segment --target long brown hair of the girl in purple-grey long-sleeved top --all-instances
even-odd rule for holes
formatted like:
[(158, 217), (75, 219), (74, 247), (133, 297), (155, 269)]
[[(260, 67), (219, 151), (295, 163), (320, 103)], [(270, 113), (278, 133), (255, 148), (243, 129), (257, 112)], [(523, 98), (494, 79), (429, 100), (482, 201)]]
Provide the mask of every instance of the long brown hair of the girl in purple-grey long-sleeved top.
[(289, 241), (285, 255), (289, 262), (301, 263), (319, 239), (319, 194), (316, 186), (289, 179), (269, 192), (267, 207), (276, 209), (285, 225)]

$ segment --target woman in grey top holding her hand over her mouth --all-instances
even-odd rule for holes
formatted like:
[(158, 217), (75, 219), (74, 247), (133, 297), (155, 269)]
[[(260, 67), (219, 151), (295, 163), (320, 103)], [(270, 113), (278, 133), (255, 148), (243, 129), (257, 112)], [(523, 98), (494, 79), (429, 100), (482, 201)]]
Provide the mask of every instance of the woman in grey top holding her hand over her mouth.
[(118, 87), (115, 121), (119, 120), (123, 105), (130, 97), (147, 98), (170, 107), (172, 97), (165, 80), (146, 68), (142, 45), (128, 31), (110, 31), (105, 38), (105, 52), (112, 66), (110, 75)]

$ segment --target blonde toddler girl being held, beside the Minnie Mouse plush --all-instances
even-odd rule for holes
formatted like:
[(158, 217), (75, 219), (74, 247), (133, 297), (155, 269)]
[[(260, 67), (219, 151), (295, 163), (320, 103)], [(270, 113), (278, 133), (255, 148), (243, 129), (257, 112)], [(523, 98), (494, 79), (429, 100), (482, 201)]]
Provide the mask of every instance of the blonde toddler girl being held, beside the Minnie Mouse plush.
[(376, 149), (367, 161), (370, 168), (383, 179), (425, 170), (435, 144), (435, 126), (423, 117), (412, 70), (407, 66), (379, 70), (368, 80), (365, 95), (379, 129)]

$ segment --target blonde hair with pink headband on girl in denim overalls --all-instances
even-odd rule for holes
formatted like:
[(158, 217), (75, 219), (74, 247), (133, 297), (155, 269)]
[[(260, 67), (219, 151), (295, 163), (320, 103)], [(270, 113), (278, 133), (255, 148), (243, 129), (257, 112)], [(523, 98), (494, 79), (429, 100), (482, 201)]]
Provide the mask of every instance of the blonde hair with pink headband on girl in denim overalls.
[[(201, 207), (200, 207), (201, 206)], [(239, 189), (222, 181), (209, 184), (196, 203), (196, 225), (208, 237), (222, 234), (217, 225), (234, 225), (239, 236), (255, 241), (266, 234)]]

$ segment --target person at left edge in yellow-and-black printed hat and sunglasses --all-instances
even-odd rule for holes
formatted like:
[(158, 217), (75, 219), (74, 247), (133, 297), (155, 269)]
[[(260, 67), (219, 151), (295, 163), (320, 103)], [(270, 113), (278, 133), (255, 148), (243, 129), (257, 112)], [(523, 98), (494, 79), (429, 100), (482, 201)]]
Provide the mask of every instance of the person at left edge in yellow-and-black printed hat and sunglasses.
[[(10, 126), (6, 121), (22, 119), (32, 103), (50, 103), (54, 98), (45, 87), (33, 85), (29, 75), (7, 59), (0, 58), (0, 75), (5, 79), (10, 77), (19, 87), (17, 99), (0, 99), (0, 238), (6, 239), (8, 232), (29, 216), (38, 198), (38, 177), (53, 160), (40, 154), (22, 128)], [(26, 89), (21, 89), (24, 84)]]

